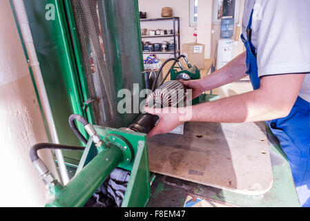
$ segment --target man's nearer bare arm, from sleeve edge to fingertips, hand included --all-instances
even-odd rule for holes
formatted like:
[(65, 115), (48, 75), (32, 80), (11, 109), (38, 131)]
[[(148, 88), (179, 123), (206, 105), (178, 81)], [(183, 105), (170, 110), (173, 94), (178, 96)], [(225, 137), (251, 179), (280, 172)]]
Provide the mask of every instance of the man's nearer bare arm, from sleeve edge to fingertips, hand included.
[(184, 122), (182, 113), (188, 111), (192, 118), (186, 121), (191, 122), (240, 123), (286, 117), (296, 102), (303, 80), (304, 74), (266, 76), (261, 79), (260, 89), (249, 93), (186, 108), (170, 108), (169, 112), (157, 113), (158, 110), (145, 108), (146, 112), (159, 116), (159, 123), (148, 136), (172, 131)]

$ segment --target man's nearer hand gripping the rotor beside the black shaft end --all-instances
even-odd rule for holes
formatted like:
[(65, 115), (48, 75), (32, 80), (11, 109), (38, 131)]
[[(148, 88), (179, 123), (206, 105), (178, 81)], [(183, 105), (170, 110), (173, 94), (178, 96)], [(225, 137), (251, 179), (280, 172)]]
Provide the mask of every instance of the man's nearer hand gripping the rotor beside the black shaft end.
[(174, 128), (184, 123), (184, 121), (182, 121), (182, 118), (180, 119), (178, 109), (180, 108), (148, 108), (147, 106), (144, 107), (144, 111), (146, 111), (146, 113), (157, 115), (159, 117), (159, 122), (153, 128), (153, 130), (148, 133), (148, 137), (153, 137), (154, 135), (160, 133), (169, 133), (173, 131)]

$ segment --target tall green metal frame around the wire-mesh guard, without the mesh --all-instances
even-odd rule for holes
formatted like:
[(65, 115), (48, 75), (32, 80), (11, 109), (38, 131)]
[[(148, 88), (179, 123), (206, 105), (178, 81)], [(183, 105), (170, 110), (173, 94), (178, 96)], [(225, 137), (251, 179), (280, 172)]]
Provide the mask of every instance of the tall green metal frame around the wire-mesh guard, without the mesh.
[[(135, 6), (135, 26), (140, 46), (139, 63), (143, 71), (138, 1), (132, 1)], [(70, 0), (24, 0), (24, 3), (59, 142), (84, 146), (68, 126), (68, 117), (72, 113), (85, 117), (90, 124), (95, 124), (71, 2)], [(48, 8), (48, 6), (54, 8)], [(46, 13), (49, 13), (49, 10), (55, 10), (52, 11), (55, 12), (55, 19), (46, 19)], [(28, 57), (26, 50), (24, 51)], [(116, 67), (116, 69), (119, 68)], [(144, 79), (142, 75), (141, 77)], [(84, 127), (79, 123), (77, 126), (87, 138)], [(75, 173), (81, 160), (81, 153), (63, 152), (67, 169)]]

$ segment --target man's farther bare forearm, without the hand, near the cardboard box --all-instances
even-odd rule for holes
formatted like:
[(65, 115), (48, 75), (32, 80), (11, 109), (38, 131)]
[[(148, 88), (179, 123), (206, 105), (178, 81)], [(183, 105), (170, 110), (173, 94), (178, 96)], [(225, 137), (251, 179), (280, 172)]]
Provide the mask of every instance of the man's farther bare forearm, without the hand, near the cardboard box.
[(246, 77), (246, 52), (235, 57), (224, 67), (202, 79), (205, 90), (218, 88)]

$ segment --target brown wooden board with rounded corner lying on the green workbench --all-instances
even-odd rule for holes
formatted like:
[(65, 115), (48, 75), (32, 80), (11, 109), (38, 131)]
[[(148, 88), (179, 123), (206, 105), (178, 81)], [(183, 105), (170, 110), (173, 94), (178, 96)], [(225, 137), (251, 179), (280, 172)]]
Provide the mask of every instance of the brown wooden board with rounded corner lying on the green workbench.
[(186, 122), (184, 135), (152, 137), (148, 151), (155, 173), (250, 195), (272, 186), (264, 123)]

